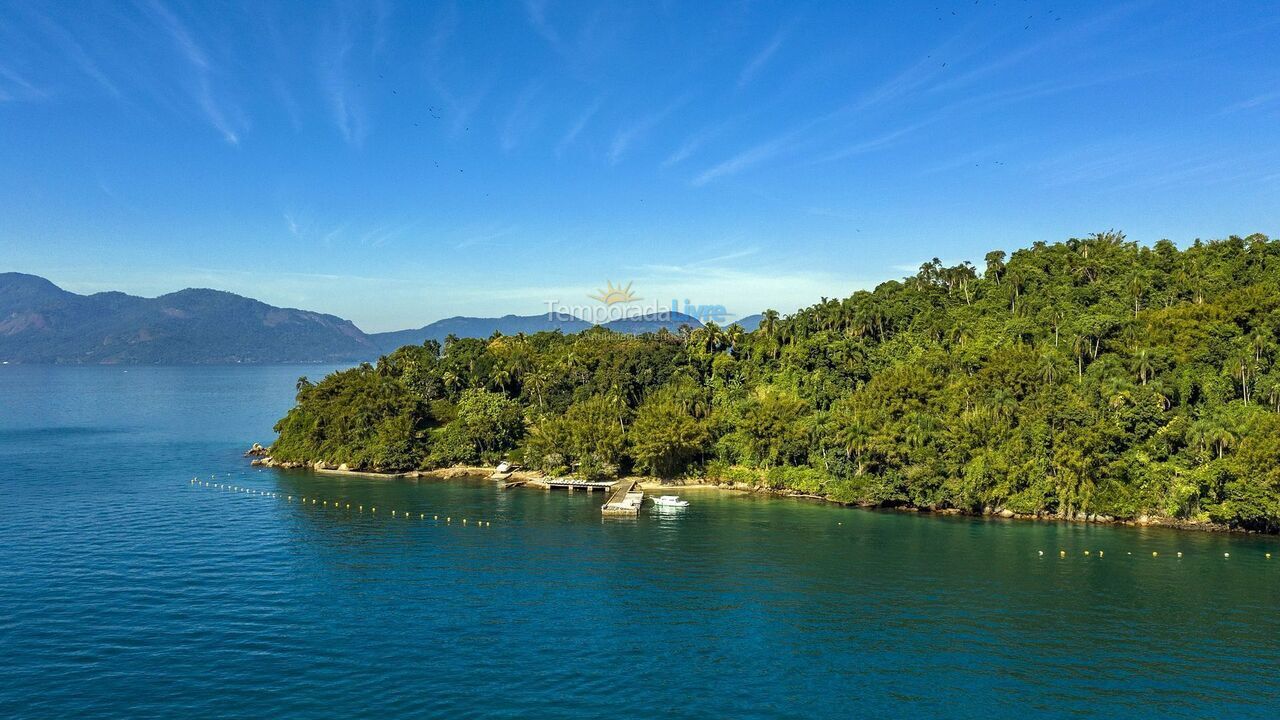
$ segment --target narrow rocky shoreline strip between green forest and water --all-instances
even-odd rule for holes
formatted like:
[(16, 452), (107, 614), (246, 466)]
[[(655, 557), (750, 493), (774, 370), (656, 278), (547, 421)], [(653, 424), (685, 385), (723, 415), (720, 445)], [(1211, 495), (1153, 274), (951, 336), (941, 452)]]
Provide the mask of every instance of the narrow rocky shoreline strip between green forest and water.
[[(440, 468), (436, 470), (408, 470), (403, 473), (378, 473), (369, 470), (352, 470), (346, 462), (332, 464), (323, 460), (315, 462), (297, 462), (297, 461), (279, 461), (270, 456), (269, 450), (259, 443), (244, 452), (246, 457), (253, 457), (250, 465), (261, 468), (279, 468), (282, 470), (312, 470), (316, 473), (330, 473), (330, 474), (343, 474), (343, 475), (362, 475), (370, 478), (434, 478), (434, 479), (457, 479), (457, 478), (476, 478), (488, 477), (495, 471), (494, 468), (481, 468), (481, 466), (454, 466), (454, 468)], [(509, 474), (511, 479), (515, 480), (538, 480), (543, 474), (539, 471), (530, 470), (517, 470)], [(1115, 518), (1111, 515), (1098, 515), (1092, 512), (1015, 512), (1007, 507), (984, 507), (982, 512), (968, 512), (956, 507), (918, 507), (914, 505), (876, 505), (876, 503), (860, 503), (860, 502), (842, 502), (838, 500), (832, 500), (831, 497), (823, 495), (801, 493), (787, 489), (774, 489), (769, 487), (750, 486), (745, 483), (721, 483), (709, 478), (700, 478), (694, 482), (677, 480), (667, 482), (659, 480), (657, 478), (627, 478), (636, 479), (640, 482), (640, 487), (644, 489), (672, 489), (672, 488), (712, 488), (722, 491), (733, 492), (748, 492), (756, 495), (767, 495), (773, 497), (794, 497), (803, 500), (815, 500), (819, 502), (829, 502), (832, 505), (842, 505), (845, 507), (858, 507), (863, 510), (878, 510), (878, 511), (893, 511), (893, 512), (928, 512), (933, 515), (963, 515), (969, 518), (1000, 518), (1004, 520), (1047, 520), (1055, 523), (1092, 523), (1100, 525), (1129, 525), (1138, 528), (1170, 528), (1175, 530), (1198, 530), (1198, 532), (1211, 532), (1211, 533), (1242, 533), (1242, 534), (1257, 534), (1252, 530), (1245, 530), (1240, 528), (1233, 528), (1230, 525), (1224, 525), (1221, 523), (1197, 523), (1193, 520), (1180, 520), (1178, 518), (1164, 518), (1158, 515), (1139, 515), (1137, 518)]]

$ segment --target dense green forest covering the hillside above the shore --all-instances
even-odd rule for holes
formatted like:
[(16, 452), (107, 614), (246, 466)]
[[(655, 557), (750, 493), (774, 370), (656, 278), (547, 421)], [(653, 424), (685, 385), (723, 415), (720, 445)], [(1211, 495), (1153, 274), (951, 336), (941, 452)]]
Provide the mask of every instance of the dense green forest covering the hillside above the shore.
[(755, 332), (402, 347), (298, 382), (282, 461), (518, 459), (844, 502), (1280, 528), (1280, 241), (938, 260)]

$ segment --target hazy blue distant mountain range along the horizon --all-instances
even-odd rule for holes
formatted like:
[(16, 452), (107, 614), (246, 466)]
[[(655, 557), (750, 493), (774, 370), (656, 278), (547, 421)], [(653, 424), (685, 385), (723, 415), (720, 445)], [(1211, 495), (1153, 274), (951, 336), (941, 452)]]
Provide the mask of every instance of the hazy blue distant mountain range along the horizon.
[[(751, 327), (746, 322), (754, 318)], [(754, 329), (759, 316), (739, 324)], [(701, 327), (681, 313), (627, 318), (603, 327), (646, 333)], [(541, 331), (581, 332), (591, 323), (563, 314), (447, 318), (429, 325), (366, 334), (334, 315), (275, 307), (218, 290), (160, 297), (123, 292), (77, 295), (45, 278), (0, 273), (0, 361), (31, 364), (349, 363), (404, 345), (456, 337)]]

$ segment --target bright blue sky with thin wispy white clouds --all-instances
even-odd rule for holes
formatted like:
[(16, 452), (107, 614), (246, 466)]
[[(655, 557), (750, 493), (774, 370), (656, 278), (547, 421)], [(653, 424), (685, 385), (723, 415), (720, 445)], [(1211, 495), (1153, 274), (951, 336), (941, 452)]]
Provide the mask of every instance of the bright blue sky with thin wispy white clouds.
[(0, 0), (0, 270), (366, 331), (1276, 233), (1274, 3)]

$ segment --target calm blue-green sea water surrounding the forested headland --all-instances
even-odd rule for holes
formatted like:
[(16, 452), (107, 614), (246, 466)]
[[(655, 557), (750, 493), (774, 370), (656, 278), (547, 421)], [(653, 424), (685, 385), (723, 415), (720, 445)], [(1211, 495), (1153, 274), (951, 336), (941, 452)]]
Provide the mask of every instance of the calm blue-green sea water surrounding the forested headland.
[(0, 717), (1280, 716), (1276, 538), (250, 468), (323, 373), (0, 366)]

